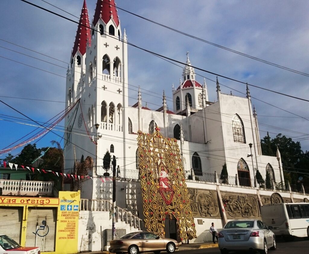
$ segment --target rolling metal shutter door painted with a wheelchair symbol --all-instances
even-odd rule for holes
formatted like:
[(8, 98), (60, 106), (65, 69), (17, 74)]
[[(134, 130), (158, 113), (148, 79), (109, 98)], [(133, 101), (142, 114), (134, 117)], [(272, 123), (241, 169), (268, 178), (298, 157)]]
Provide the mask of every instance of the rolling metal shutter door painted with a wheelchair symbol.
[[(46, 227), (42, 221), (46, 221)], [(57, 208), (29, 208), (26, 247), (40, 247), (41, 252), (55, 251), (56, 221)]]

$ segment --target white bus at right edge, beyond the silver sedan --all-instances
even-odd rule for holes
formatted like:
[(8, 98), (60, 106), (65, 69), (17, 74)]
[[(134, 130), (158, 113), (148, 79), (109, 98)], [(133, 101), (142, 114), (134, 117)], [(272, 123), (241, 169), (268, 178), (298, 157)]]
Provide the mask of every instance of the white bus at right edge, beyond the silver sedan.
[(309, 237), (309, 203), (280, 203), (261, 207), (262, 221), (285, 240)]

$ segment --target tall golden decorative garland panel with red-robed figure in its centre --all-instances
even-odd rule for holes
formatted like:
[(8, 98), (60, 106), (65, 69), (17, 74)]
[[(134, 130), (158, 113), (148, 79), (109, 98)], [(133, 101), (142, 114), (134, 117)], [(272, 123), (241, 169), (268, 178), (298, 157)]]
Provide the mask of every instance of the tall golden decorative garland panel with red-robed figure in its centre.
[(177, 140), (138, 131), (138, 158), (147, 230), (164, 237), (164, 221), (175, 218), (180, 240), (196, 238)]

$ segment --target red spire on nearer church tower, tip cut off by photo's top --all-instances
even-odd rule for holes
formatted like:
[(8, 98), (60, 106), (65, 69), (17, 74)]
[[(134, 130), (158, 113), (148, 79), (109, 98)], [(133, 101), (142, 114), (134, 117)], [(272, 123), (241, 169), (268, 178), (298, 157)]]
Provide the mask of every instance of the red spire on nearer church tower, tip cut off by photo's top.
[(110, 19), (113, 19), (116, 26), (118, 27), (119, 17), (116, 10), (115, 0), (98, 0), (95, 7), (93, 24), (96, 25), (100, 18), (104, 21), (105, 24), (107, 24)]

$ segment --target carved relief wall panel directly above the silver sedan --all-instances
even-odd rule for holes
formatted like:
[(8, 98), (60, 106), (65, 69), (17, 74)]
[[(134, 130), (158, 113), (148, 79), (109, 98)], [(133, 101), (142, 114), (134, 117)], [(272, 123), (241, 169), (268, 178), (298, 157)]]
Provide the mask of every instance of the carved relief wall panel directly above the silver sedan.
[(221, 192), (227, 219), (260, 219), (257, 195)]

